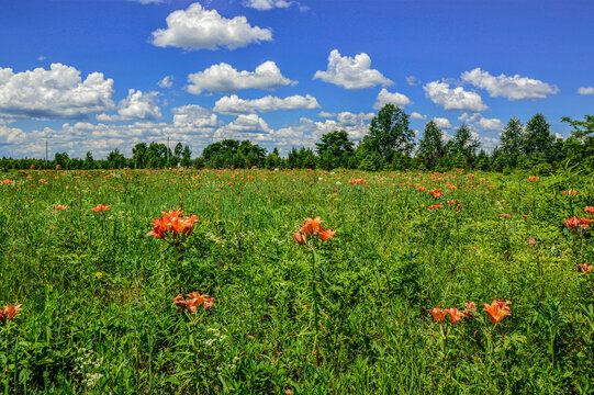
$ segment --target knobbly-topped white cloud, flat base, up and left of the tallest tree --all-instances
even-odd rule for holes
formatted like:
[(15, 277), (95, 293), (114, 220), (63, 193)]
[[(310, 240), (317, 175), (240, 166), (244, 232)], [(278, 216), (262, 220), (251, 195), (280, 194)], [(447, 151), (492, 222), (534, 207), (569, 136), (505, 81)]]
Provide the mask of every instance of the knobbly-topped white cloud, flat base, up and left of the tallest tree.
[(360, 90), (378, 84), (390, 86), (394, 83), (380, 71), (371, 69), (371, 58), (366, 53), (356, 55), (352, 58), (340, 56), (338, 49), (330, 52), (327, 70), (317, 70), (315, 72), (314, 79), (317, 78), (348, 90)]

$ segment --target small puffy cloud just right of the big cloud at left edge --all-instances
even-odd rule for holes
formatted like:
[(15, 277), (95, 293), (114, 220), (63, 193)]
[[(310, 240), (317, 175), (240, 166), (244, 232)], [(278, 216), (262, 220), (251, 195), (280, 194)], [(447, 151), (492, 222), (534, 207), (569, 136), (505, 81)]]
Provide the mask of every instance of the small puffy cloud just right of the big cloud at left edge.
[(98, 121), (131, 121), (131, 120), (157, 120), (161, 117), (161, 111), (157, 105), (158, 92), (143, 93), (139, 90), (130, 89), (127, 98), (117, 104), (117, 115), (97, 115)]

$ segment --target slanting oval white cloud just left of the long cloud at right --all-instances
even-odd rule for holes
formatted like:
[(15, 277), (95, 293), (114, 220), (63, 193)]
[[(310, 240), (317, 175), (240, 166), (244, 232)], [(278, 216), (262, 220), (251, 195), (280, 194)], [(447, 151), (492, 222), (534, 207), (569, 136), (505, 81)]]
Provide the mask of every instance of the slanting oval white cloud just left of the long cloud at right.
[(448, 111), (478, 112), (489, 109), (478, 93), (469, 92), (462, 87), (450, 89), (447, 82), (433, 81), (423, 87), (423, 89), (427, 98)]

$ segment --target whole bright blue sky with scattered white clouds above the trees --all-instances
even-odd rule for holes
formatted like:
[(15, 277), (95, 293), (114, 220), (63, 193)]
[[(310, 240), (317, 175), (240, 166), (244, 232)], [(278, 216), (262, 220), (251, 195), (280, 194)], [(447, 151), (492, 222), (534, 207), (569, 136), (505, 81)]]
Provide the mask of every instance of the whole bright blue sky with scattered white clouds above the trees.
[(0, 2), (0, 155), (103, 157), (138, 142), (360, 139), (383, 103), (467, 122), (594, 113), (592, 1)]

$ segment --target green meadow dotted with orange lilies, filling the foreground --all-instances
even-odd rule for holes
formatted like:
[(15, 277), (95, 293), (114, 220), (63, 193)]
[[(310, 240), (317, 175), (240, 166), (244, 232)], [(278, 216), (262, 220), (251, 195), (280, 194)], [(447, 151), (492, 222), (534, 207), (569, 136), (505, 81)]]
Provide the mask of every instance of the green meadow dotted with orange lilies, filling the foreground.
[(2, 173), (0, 391), (592, 394), (593, 179), (531, 176)]

